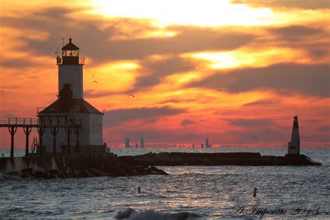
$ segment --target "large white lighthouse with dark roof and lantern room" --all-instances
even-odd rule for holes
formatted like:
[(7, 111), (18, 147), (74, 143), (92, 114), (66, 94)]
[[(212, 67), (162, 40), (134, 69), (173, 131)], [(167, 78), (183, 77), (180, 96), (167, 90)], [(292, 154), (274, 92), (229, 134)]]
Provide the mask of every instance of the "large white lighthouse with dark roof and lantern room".
[[(58, 99), (48, 107), (37, 110), (40, 125), (55, 125), (40, 134), (41, 149), (45, 153), (70, 155), (104, 150), (102, 137), (103, 113), (84, 100), (84, 58), (79, 57), (79, 47), (69, 39), (57, 56)], [(56, 125), (79, 125), (76, 129)]]

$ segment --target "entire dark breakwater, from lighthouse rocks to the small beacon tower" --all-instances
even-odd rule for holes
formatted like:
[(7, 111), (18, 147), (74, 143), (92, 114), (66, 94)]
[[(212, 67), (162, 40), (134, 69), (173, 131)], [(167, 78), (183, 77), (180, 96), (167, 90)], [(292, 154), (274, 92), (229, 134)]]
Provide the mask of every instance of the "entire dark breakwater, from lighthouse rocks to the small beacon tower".
[(160, 152), (120, 156), (113, 153), (77, 156), (0, 158), (0, 171), (22, 178), (167, 175), (155, 166), (320, 166), (306, 155), (261, 156), (258, 152)]

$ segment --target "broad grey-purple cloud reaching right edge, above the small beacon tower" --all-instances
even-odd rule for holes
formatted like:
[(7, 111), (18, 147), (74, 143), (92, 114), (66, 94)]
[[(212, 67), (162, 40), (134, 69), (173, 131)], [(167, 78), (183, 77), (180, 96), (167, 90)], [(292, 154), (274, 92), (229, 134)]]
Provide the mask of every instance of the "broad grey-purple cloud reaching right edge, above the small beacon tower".
[(227, 74), (214, 74), (189, 86), (225, 88), (232, 93), (263, 89), (329, 97), (329, 81), (329, 65), (281, 63), (266, 68), (245, 68)]

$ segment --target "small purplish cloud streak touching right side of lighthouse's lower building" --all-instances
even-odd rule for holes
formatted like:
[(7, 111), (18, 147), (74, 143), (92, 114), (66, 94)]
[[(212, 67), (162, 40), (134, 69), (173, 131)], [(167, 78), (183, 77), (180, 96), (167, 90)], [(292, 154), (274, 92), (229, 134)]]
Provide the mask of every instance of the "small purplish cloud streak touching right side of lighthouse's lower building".
[(173, 116), (183, 113), (183, 110), (163, 108), (140, 108), (140, 109), (116, 109), (106, 111), (104, 116), (104, 127), (118, 125), (129, 120), (146, 119), (160, 116)]

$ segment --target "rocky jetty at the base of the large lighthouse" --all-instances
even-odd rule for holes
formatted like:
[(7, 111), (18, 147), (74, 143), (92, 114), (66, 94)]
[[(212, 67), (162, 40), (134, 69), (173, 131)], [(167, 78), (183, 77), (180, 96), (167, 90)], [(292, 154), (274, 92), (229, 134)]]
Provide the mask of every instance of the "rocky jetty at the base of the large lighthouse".
[(0, 158), (0, 171), (22, 178), (88, 178), (99, 176), (168, 175), (155, 166), (134, 164), (107, 153), (98, 156)]

